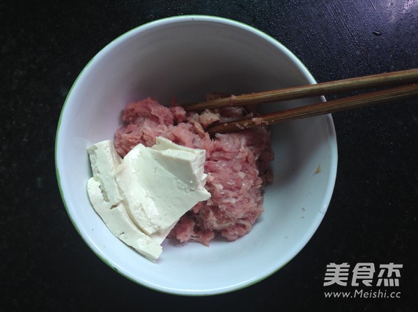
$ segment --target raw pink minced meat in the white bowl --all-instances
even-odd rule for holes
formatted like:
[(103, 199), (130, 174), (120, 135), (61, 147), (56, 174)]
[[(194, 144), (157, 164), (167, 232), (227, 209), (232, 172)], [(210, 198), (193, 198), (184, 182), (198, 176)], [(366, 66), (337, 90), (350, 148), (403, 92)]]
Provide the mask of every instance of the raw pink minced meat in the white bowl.
[(218, 133), (215, 138), (204, 130), (213, 122), (244, 115), (244, 108), (235, 107), (186, 113), (180, 106), (162, 106), (150, 98), (125, 107), (123, 125), (115, 139), (121, 156), (139, 143), (154, 145), (157, 136), (178, 145), (206, 149), (205, 187), (212, 196), (183, 215), (169, 237), (204, 245), (209, 245), (217, 233), (236, 240), (248, 233), (263, 213), (263, 191), (272, 176), (268, 169), (273, 159), (268, 129)]

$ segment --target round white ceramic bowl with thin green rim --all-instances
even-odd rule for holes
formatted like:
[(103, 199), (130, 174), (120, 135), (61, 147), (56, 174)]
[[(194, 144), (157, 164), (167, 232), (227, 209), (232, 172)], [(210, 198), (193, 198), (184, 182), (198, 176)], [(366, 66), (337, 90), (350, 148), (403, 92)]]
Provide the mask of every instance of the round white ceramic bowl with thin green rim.
[[(265, 192), (265, 213), (247, 236), (210, 247), (166, 240), (157, 263), (115, 238), (93, 210), (86, 149), (114, 138), (121, 111), (132, 100), (151, 96), (168, 104), (173, 95), (179, 102), (197, 101), (213, 91), (238, 95), (307, 83), (314, 78), (286, 47), (228, 19), (171, 17), (121, 35), (86, 65), (59, 121), (56, 174), (77, 231), (111, 268), (165, 293), (226, 293), (279, 270), (307, 244), (330, 203), (337, 163), (330, 115), (273, 126), (274, 183)], [(315, 101), (320, 99), (275, 109)]]

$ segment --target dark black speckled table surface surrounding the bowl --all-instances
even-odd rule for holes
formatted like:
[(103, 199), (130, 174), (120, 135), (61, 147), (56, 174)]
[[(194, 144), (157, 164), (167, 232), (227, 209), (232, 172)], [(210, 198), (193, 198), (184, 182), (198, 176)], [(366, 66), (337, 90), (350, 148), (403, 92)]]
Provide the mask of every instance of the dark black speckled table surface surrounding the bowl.
[[(417, 311), (418, 99), (333, 115), (339, 165), (327, 214), (306, 247), (258, 284), (208, 297), (159, 293), (111, 270), (79, 237), (55, 174), (65, 97), (118, 35), (189, 14), (268, 33), (318, 82), (418, 67), (416, 0), (1, 1), (0, 311)], [(399, 285), (324, 286), (330, 263), (350, 272), (373, 263), (373, 283), (380, 265), (402, 265), (392, 274)], [(371, 298), (325, 297), (361, 289)]]

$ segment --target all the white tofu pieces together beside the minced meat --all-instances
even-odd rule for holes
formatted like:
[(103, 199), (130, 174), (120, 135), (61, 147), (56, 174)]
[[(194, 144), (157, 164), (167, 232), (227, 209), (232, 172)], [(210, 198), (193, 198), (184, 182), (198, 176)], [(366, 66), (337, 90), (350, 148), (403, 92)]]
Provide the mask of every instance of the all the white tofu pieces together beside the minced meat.
[(88, 197), (108, 229), (150, 261), (182, 215), (210, 198), (204, 188), (206, 151), (157, 138), (137, 145), (125, 158), (104, 140), (88, 148), (93, 177)]

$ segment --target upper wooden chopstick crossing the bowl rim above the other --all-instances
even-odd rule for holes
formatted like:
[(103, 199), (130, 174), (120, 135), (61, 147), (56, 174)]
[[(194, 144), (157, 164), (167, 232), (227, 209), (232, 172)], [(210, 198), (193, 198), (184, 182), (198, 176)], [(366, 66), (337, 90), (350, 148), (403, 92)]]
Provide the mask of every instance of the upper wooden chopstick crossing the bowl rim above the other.
[(202, 101), (194, 104), (184, 104), (185, 110), (203, 110), (206, 108), (222, 108), (228, 106), (244, 106), (275, 101), (288, 101), (304, 97), (330, 95), (353, 90), (364, 90), (377, 87), (392, 87), (394, 85), (418, 82), (418, 69), (407, 69), (399, 72), (387, 72), (371, 76), (361, 76), (351, 79), (302, 85), (247, 95), (237, 95)]

